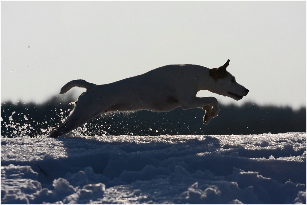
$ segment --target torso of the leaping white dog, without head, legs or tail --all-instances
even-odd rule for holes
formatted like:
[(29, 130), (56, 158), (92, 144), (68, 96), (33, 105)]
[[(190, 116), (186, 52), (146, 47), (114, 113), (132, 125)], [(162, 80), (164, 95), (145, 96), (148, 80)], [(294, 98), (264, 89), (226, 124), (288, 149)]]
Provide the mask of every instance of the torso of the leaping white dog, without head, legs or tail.
[(196, 65), (167, 65), (142, 75), (96, 85), (93, 91), (103, 93), (103, 97), (111, 101), (107, 112), (140, 109), (165, 112), (180, 106), (182, 93), (195, 96), (199, 91), (200, 73), (207, 70)]

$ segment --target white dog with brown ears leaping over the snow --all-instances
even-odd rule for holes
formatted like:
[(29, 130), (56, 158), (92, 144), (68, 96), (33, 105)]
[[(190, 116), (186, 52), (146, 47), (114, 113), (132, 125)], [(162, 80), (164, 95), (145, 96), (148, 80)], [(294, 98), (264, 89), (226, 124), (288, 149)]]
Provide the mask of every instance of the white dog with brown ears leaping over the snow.
[(85, 80), (73, 80), (63, 86), (59, 94), (72, 87), (86, 88), (75, 102), (68, 118), (52, 129), (50, 137), (59, 137), (80, 127), (102, 113), (113, 111), (152, 110), (157, 112), (203, 108), (204, 124), (220, 112), (215, 97), (196, 97), (200, 90), (240, 100), (249, 92), (227, 72), (228, 61), (219, 68), (208, 69), (200, 65), (166, 65), (142, 75), (105, 85)]

